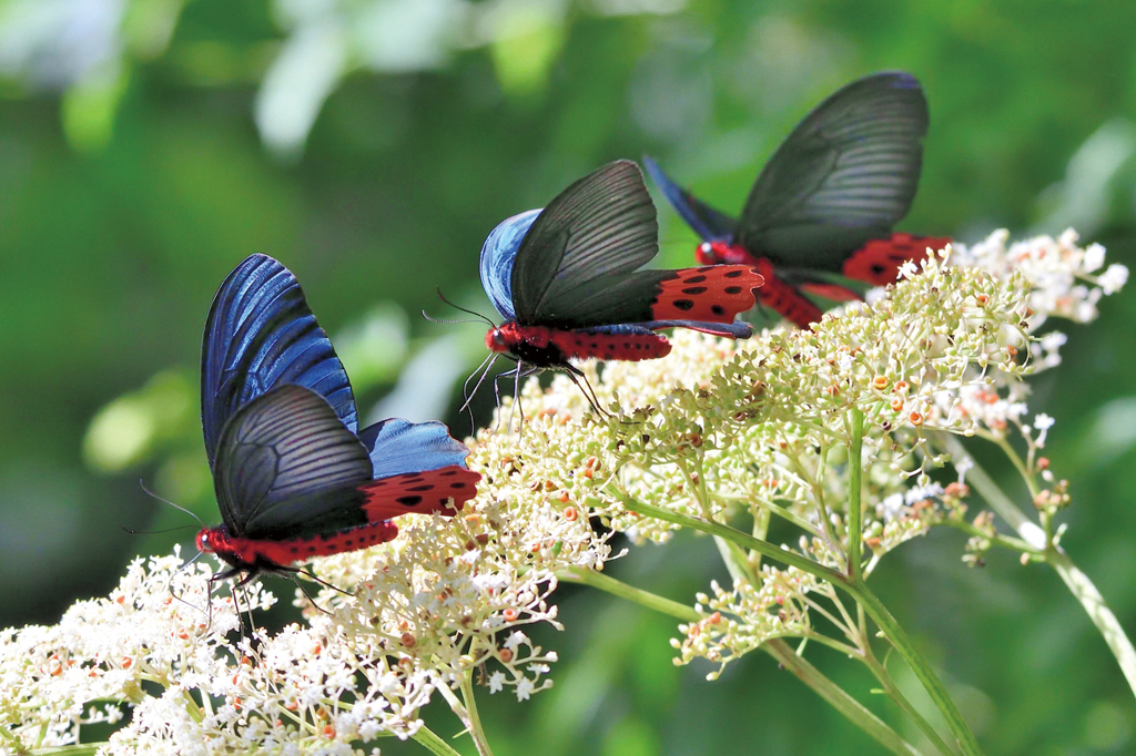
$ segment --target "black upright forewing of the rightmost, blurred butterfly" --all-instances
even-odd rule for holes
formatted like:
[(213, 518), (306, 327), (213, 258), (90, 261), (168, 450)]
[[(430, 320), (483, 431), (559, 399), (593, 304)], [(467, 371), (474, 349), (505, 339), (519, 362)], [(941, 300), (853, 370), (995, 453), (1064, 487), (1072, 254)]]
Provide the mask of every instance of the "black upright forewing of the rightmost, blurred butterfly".
[(841, 269), (907, 215), (929, 116), (914, 76), (855, 81), (821, 102), (758, 177), (737, 242), (774, 264)]

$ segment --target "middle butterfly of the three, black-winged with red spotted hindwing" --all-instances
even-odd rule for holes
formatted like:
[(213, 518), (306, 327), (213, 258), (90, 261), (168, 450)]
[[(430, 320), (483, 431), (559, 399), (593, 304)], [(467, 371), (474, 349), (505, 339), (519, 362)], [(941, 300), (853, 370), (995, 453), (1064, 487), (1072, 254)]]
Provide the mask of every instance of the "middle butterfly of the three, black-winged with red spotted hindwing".
[(658, 252), (654, 203), (630, 160), (594, 170), (544, 209), (502, 221), (481, 253), (482, 285), (504, 318), (485, 336), (491, 359), (515, 360), (518, 378), (557, 369), (575, 380), (583, 373), (571, 359), (667, 355), (671, 345), (660, 328), (730, 338), (753, 333), (734, 322), (762, 284), (750, 266), (641, 270)]

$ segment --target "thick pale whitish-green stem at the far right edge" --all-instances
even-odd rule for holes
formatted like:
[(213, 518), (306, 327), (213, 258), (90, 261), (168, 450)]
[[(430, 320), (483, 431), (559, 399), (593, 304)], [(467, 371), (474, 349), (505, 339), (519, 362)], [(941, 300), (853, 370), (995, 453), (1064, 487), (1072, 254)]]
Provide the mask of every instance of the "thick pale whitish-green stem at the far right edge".
[[(954, 457), (955, 462), (970, 457), (966, 447), (954, 436), (944, 436), (943, 445), (951, 453), (951, 456)], [(970, 460), (974, 464), (967, 471), (967, 480), (970, 481), (970, 485), (982, 494), (982, 497), (986, 499), (986, 503), (991, 505), (991, 509), (1000, 518), (1018, 531), (1024, 540), (1029, 544), (1036, 543), (1037, 536), (1043, 535), (1042, 528), (1018, 509), (1013, 501), (1005, 495), (985, 470), (978, 467), (978, 463), (972, 457)], [(1037, 554), (1038, 551), (1031, 548), (1030, 553)], [(1124, 672), (1125, 679), (1128, 680), (1128, 687), (1136, 695), (1136, 648), (1133, 648), (1133, 642), (1125, 633), (1125, 629), (1120, 625), (1120, 621), (1117, 620), (1117, 615), (1104, 603), (1101, 591), (1096, 589), (1096, 586), (1088, 579), (1088, 576), (1072, 563), (1072, 560), (1069, 558), (1069, 555), (1060, 546), (1050, 543), (1041, 552), (1041, 555), (1046, 564), (1056, 570), (1056, 573), (1064, 580), (1066, 586), (1069, 587), (1072, 595), (1085, 607), (1088, 619), (1096, 625), (1096, 629), (1104, 638), (1104, 642), (1108, 644), (1109, 650), (1116, 657), (1117, 664), (1120, 665), (1120, 671)]]

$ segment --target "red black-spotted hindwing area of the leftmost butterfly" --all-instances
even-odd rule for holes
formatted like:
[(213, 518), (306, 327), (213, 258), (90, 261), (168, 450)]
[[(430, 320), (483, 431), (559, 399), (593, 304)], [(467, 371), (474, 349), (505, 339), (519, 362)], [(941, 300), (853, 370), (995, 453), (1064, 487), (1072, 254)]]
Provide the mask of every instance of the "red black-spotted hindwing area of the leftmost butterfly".
[(451, 464), (426, 472), (407, 472), (379, 478), (359, 487), (367, 496), (362, 509), (371, 522), (400, 514), (454, 514), (477, 495), (481, 474)]

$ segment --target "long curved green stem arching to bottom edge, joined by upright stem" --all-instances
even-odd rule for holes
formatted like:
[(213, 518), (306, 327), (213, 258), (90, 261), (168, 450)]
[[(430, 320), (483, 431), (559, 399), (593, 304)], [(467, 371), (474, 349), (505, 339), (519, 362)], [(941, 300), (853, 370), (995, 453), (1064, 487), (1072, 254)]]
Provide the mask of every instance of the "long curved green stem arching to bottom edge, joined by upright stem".
[(868, 616), (875, 621), (892, 646), (895, 647), (895, 650), (900, 653), (900, 656), (902, 656), (911, 667), (916, 678), (927, 690), (927, 695), (930, 696), (935, 706), (943, 713), (943, 719), (946, 720), (947, 725), (951, 728), (951, 732), (954, 734), (955, 740), (958, 740), (960, 748), (962, 748), (962, 753), (967, 756), (977, 756), (978, 754), (982, 754), (974, 733), (970, 731), (970, 728), (967, 726), (966, 720), (962, 719), (962, 714), (954, 705), (954, 702), (951, 700), (951, 696), (946, 692), (946, 686), (944, 686), (943, 681), (938, 679), (937, 674), (935, 674), (930, 664), (928, 664), (927, 661), (919, 654), (914, 644), (911, 641), (911, 638), (908, 637), (908, 633), (904, 632), (900, 623), (896, 622), (895, 618), (887, 611), (887, 607), (885, 607), (879, 598), (877, 598), (876, 595), (868, 589), (868, 586), (864, 585), (862, 580), (849, 580), (849, 578), (841, 572), (830, 570), (821, 564), (817, 564), (812, 560), (801, 556), (795, 552), (778, 548), (769, 541), (759, 540), (753, 536), (735, 530), (729, 526), (699, 520), (698, 518), (692, 518), (678, 512), (670, 512), (644, 502), (630, 499), (626, 495), (619, 495), (620, 499), (624, 501), (624, 505), (633, 512), (646, 514), (649, 516), (663, 520), (665, 522), (673, 522), (693, 530), (701, 530), (702, 532), (710, 534), (711, 536), (721, 536), (727, 540), (733, 540), (738, 546), (753, 549), (759, 554), (780, 562), (782, 564), (795, 566), (799, 570), (815, 574), (822, 580), (827, 580), (832, 585), (851, 595), (863, 606)]

